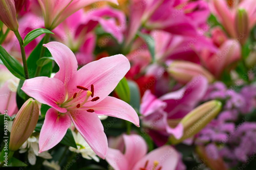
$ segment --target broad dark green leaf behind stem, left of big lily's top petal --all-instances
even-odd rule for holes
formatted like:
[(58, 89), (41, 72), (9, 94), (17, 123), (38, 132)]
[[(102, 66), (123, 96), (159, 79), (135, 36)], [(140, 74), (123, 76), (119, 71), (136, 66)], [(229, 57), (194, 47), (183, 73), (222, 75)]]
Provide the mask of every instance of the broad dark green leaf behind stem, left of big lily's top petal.
[[(29, 55), (28, 59), (27, 59), (27, 65), (28, 65), (28, 74), (29, 74), (29, 78), (34, 78), (35, 77), (35, 73), (36, 73), (36, 62), (37, 60), (39, 60), (39, 56), (40, 56), (40, 52), (41, 52), (41, 48), (43, 45), (43, 40), (42, 39), (39, 44), (36, 46), (36, 48), (31, 52), (31, 54)], [(49, 52), (49, 50), (46, 48), (45, 49), (45, 55), (44, 56), (50, 56), (51, 53)], [(46, 64), (45, 66), (42, 67), (42, 70), (45, 69), (49, 69), (50, 68), (50, 63)], [(42, 72), (41, 70), (41, 72)], [(44, 76), (48, 76), (51, 74), (51, 70), (46, 71), (48, 72), (47, 75)], [(40, 74), (40, 76), (42, 76)], [(49, 76), (48, 76), (49, 77)]]

